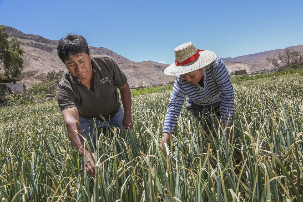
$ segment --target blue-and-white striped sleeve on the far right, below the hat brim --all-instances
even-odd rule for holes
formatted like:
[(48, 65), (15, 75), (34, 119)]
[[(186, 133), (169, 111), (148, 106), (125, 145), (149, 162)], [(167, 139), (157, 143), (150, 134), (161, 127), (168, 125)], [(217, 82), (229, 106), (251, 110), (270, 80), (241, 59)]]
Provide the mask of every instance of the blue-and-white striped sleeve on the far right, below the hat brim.
[(219, 89), (221, 100), (221, 117), (224, 122), (231, 122), (234, 111), (234, 89), (224, 62), (218, 58), (215, 61), (215, 82)]

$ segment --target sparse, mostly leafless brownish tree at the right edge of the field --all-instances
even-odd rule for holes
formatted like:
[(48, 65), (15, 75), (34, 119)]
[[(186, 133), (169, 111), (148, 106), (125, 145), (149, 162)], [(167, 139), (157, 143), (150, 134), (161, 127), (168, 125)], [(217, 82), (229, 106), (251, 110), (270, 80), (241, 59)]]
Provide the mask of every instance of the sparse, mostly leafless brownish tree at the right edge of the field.
[(295, 50), (285, 48), (281, 53), (278, 53), (277, 59), (268, 56), (267, 63), (271, 64), (273, 68), (278, 71), (290, 68), (303, 67), (303, 50)]

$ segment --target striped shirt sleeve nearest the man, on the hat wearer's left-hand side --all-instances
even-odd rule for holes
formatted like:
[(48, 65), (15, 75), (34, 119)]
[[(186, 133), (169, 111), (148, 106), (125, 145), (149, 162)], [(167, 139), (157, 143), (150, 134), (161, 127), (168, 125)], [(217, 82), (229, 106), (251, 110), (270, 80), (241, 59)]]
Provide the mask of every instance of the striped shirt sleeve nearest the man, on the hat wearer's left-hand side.
[(165, 115), (163, 133), (175, 133), (175, 127), (184, 103), (185, 96), (186, 92), (176, 79)]

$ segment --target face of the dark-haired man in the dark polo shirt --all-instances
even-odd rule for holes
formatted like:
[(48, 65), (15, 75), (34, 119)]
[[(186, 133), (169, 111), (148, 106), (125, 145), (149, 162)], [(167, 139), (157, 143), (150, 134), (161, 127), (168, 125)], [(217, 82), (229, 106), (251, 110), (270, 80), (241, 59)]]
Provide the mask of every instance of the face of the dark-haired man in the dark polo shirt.
[(92, 73), (91, 54), (82, 53), (81, 55), (71, 55), (64, 61), (68, 71), (78, 79), (86, 79)]

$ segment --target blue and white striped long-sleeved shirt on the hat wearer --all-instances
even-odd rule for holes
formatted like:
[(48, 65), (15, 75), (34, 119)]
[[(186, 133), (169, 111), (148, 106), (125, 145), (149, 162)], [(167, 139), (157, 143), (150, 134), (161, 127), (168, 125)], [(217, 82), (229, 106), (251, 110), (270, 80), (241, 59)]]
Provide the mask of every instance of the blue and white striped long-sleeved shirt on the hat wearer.
[(222, 121), (231, 122), (234, 110), (234, 89), (224, 62), (216, 58), (205, 67), (204, 88), (198, 84), (191, 84), (176, 76), (173, 92), (166, 111), (164, 133), (174, 133), (185, 96), (187, 102), (196, 105), (209, 105), (221, 101)]

